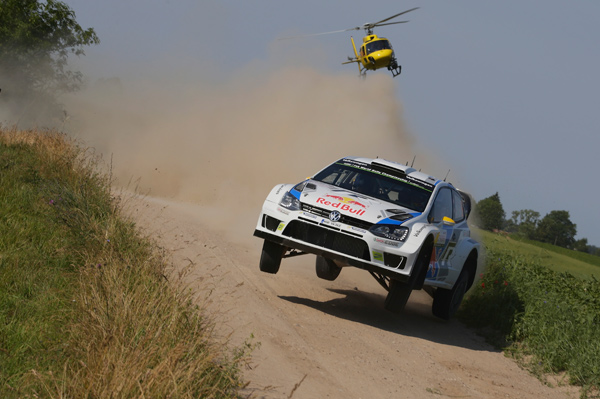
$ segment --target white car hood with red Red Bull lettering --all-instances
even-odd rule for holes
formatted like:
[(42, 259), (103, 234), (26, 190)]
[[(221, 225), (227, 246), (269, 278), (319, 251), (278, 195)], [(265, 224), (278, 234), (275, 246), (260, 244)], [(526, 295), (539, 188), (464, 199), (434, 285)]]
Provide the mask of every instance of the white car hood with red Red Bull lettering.
[(419, 213), (391, 202), (326, 183), (314, 180), (308, 180), (306, 183), (302, 192), (293, 191), (296, 191), (294, 194), (298, 195), (297, 198), (300, 202), (312, 207), (327, 211), (337, 210), (342, 215), (359, 218), (373, 224), (390, 222), (390, 218), (393, 218), (392, 221), (395, 223), (401, 223), (419, 215)]

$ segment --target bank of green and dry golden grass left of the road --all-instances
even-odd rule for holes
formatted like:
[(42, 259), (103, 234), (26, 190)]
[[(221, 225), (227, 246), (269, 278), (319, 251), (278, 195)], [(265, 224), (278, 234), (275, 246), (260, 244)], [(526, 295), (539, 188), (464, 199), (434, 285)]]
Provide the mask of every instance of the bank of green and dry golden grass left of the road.
[(0, 129), (0, 397), (238, 397), (249, 349), (216, 342), (99, 170)]

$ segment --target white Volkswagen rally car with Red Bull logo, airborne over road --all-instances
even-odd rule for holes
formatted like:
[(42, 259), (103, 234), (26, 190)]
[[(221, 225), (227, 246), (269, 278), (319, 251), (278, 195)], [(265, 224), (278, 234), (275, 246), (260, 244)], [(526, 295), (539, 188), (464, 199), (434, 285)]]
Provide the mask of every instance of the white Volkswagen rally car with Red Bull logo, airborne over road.
[(452, 184), (384, 159), (347, 157), (298, 184), (269, 193), (254, 235), (264, 239), (260, 270), (282, 258), (317, 255), (317, 276), (365, 269), (400, 312), (412, 290), (433, 296), (433, 314), (456, 312), (477, 270), (479, 243), (467, 217), (471, 200)]

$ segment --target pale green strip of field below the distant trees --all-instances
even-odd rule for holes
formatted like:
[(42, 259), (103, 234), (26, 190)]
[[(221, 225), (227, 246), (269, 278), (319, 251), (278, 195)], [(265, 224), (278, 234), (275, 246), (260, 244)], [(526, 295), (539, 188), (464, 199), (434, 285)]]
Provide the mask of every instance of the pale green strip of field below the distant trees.
[(507, 235), (476, 230), (486, 248), (494, 252), (513, 252), (557, 272), (575, 277), (600, 279), (600, 257), (529, 240), (516, 240)]

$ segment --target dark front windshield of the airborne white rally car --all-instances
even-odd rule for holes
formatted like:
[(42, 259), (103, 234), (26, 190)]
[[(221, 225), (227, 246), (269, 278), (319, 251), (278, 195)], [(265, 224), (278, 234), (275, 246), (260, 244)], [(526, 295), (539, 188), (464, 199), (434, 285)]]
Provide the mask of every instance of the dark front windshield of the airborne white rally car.
[(433, 186), (409, 177), (391, 176), (364, 163), (337, 162), (317, 173), (314, 180), (423, 212)]

